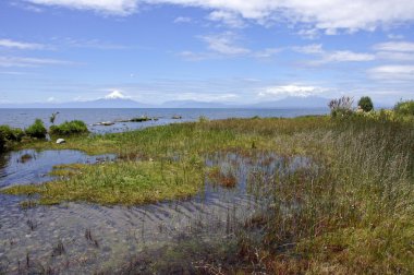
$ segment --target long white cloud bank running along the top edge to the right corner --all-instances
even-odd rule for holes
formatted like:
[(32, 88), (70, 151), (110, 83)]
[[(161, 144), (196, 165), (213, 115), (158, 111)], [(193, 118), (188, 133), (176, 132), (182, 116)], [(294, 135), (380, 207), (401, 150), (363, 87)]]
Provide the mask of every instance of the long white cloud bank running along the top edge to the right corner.
[(413, 0), (25, 0), (47, 5), (127, 15), (138, 4), (178, 4), (233, 13), (257, 22), (287, 20), (333, 34), (337, 29), (374, 31), (414, 20)]

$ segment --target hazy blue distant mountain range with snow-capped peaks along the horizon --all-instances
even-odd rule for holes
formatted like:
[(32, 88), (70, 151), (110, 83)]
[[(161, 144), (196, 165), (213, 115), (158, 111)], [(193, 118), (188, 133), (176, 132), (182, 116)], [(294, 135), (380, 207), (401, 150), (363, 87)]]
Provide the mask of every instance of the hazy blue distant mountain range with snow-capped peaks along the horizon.
[(292, 109), (292, 108), (328, 108), (328, 98), (309, 97), (285, 97), (280, 100), (264, 101), (249, 105), (238, 105), (231, 103), (208, 103), (197, 100), (173, 100), (161, 105), (148, 105), (130, 98), (100, 98), (88, 101), (71, 103), (36, 103), (36, 104), (0, 104), (0, 108), (257, 108), (257, 109)]

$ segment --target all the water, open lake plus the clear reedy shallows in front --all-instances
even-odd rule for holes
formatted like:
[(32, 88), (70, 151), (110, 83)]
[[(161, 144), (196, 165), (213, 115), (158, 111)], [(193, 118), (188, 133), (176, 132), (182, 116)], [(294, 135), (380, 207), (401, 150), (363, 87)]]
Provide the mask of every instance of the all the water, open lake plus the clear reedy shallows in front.
[[(96, 133), (120, 132), (180, 121), (259, 117), (296, 117), (326, 113), (325, 109), (0, 109), (0, 124), (25, 128), (35, 118), (45, 122), (59, 111), (56, 123), (81, 119)], [(110, 127), (93, 125), (100, 121), (125, 120), (134, 117), (157, 117), (157, 121), (118, 122)], [(172, 116), (182, 116), (173, 120)], [(47, 125), (49, 123), (46, 123)], [(114, 155), (88, 156), (77, 151), (24, 150), (0, 155), (0, 189), (13, 184), (37, 184), (52, 180), (48, 175), (53, 165), (86, 163), (100, 165), (117, 162)], [(36, 196), (0, 194), (0, 274), (107, 274), (120, 272), (137, 256), (173, 248), (181, 241), (236, 243), (235, 231), (244, 222), (275, 202), (272, 184), (263, 179), (289, 175), (296, 169), (313, 169), (314, 164), (302, 156), (281, 157), (271, 153), (239, 156), (217, 153), (206, 156), (206, 166), (232, 171), (233, 189), (206, 181), (190, 200), (160, 202), (126, 207), (88, 203), (63, 203), (52, 206), (22, 207), (22, 202)], [(289, 211), (287, 205), (281, 210)], [(261, 234), (258, 232), (257, 241)], [(197, 246), (197, 247), (199, 247)], [(151, 252), (154, 251), (154, 252)], [(199, 251), (203, 251), (200, 248)], [(178, 262), (184, 265), (186, 255)], [(145, 263), (145, 261), (144, 261)], [(139, 270), (148, 273), (145, 266)]]

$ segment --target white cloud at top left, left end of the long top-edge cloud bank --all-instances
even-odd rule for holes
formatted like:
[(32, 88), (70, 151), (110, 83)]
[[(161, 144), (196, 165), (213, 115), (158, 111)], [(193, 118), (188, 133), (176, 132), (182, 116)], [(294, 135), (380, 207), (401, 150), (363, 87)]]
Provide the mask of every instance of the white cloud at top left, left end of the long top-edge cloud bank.
[(25, 0), (34, 4), (94, 10), (106, 14), (129, 15), (136, 11), (137, 0)]

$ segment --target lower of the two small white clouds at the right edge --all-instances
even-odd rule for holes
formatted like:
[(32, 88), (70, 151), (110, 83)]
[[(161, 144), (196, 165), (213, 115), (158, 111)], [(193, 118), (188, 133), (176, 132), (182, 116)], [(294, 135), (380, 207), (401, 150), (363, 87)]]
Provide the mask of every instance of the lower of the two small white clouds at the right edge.
[(368, 75), (376, 80), (386, 81), (413, 81), (414, 65), (390, 64), (373, 68)]

